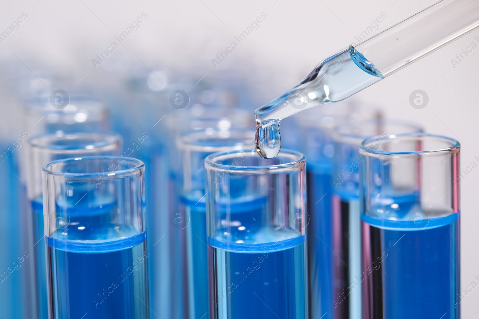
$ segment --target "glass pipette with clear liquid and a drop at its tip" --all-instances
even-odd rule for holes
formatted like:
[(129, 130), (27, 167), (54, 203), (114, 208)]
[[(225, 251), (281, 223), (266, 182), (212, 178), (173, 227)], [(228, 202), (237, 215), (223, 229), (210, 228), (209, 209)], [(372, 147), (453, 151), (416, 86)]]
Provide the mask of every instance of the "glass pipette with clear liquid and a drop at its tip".
[(256, 151), (265, 158), (279, 153), (282, 119), (346, 99), (478, 27), (478, 0), (442, 0), (331, 55), (294, 88), (255, 110)]

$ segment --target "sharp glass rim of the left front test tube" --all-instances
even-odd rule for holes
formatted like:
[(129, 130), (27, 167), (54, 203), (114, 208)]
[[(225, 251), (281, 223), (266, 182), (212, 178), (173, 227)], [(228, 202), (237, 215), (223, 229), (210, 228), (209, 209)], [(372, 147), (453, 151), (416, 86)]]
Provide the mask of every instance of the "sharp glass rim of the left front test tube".
[[(66, 164), (75, 161), (91, 161), (91, 160), (118, 160), (121, 163), (133, 164), (133, 167), (129, 167), (126, 169), (121, 169), (118, 171), (112, 172), (95, 172), (95, 173), (68, 173), (68, 172), (58, 172), (55, 170), (50, 169), (52, 165), (56, 164)], [(61, 176), (61, 177), (69, 177), (69, 178), (91, 178), (91, 177), (100, 177), (102, 179), (117, 179), (127, 176), (133, 176), (137, 172), (141, 172), (144, 170), (145, 164), (140, 161), (139, 159), (133, 157), (120, 157), (120, 156), (82, 156), (82, 157), (70, 157), (70, 158), (62, 158), (53, 162), (50, 162), (43, 166), (42, 172), (50, 175)], [(104, 177), (104, 178), (103, 178)]]

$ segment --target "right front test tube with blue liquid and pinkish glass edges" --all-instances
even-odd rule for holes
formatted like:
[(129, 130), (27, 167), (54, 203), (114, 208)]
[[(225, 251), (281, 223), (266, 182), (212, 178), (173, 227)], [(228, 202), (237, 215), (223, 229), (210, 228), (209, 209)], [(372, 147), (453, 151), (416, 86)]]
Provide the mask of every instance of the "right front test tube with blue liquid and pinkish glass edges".
[(459, 149), (425, 133), (361, 144), (363, 318), (460, 318)]

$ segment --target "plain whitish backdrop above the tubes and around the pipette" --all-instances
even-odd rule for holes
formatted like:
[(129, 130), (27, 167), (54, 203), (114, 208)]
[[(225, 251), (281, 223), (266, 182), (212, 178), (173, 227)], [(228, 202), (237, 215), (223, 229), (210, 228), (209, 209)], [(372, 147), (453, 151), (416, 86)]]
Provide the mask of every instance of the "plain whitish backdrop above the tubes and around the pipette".
[[(74, 87), (85, 74), (80, 83), (94, 86), (101, 72), (121, 72), (131, 65), (179, 69), (194, 79), (205, 74), (205, 78), (215, 77), (215, 72), (227, 72), (230, 68), (241, 69), (251, 78), (251, 83), (258, 83), (259, 88), (267, 87), (262, 90), (262, 96), (257, 97), (258, 104), (251, 108), (254, 109), (295, 85), (323, 58), (354, 42), (354, 37), (365, 31), (382, 12), (388, 17), (381, 28), (430, 2), (4, 0), (0, 3), (0, 32), (22, 12), (26, 12), (28, 18), (0, 44), (0, 68), (8, 70), (14, 64), (23, 67), (22, 72), (26, 74), (61, 74), (66, 87)], [(95, 69), (91, 59), (142, 12), (147, 13), (148, 18), (141, 23), (141, 28)], [(215, 69), (211, 60), (262, 12), (267, 18), (260, 28)], [(458, 139), (462, 144), (463, 168), (471, 162), (479, 164), (474, 157), (479, 158), (479, 48), (456, 67), (451, 59), (471, 42), (479, 44), (474, 36), (479, 37), (479, 30), (357, 94), (359, 99), (381, 105), (389, 118), (418, 121), (428, 132)], [(3, 81), (5, 91), (12, 82), (5, 74)], [(409, 103), (409, 96), (416, 89), (424, 90), (429, 96), (425, 109), (413, 109)], [(9, 110), (15, 111), (14, 107)], [(463, 288), (472, 281), (479, 284), (474, 277), (479, 277), (479, 214), (474, 209), (478, 185), (479, 168), (476, 168), (461, 183)], [(474, 289), (461, 303), (463, 318), (477, 318), (478, 301), (479, 289)]]

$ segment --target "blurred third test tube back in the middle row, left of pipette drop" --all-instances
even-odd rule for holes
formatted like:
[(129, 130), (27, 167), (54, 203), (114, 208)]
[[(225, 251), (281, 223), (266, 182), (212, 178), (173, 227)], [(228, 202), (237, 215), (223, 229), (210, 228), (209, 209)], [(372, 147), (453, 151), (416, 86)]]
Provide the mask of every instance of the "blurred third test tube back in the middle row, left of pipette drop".
[[(183, 113), (180, 113), (182, 111)], [(158, 305), (160, 304), (164, 304), (165, 300), (170, 300), (169, 304), (163, 307), (163, 313), (167, 312), (164, 311), (165, 309), (168, 310), (168, 318), (184, 319), (190, 316), (190, 313), (195, 313), (196, 310), (194, 309), (198, 309), (199, 307), (189, 305), (189, 300), (194, 300), (194, 297), (189, 296), (188, 286), (190, 286), (190, 284), (187, 281), (187, 231), (180, 226), (180, 220), (184, 220), (185, 217), (183, 214), (183, 219), (181, 218), (183, 213), (181, 209), (184, 208), (180, 207), (182, 205), (180, 197), (184, 194), (182, 190), (183, 165), (182, 159), (179, 157), (180, 152), (176, 142), (178, 139), (181, 139), (182, 136), (193, 133), (210, 134), (212, 138), (215, 138), (214, 134), (216, 134), (221, 139), (225, 139), (223, 134), (227, 134), (228, 131), (253, 127), (254, 122), (251, 118), (248, 118), (247, 115), (248, 112), (235, 108), (226, 110), (224, 107), (205, 107), (201, 104), (194, 104), (191, 108), (184, 110), (173, 109), (171, 113), (167, 114), (165, 118), (161, 120), (161, 122), (163, 122), (162, 125), (164, 125), (162, 129), (165, 130), (164, 135), (166, 136), (165, 140), (168, 147), (168, 150), (165, 152), (168, 156), (166, 162), (168, 184), (165, 187), (167, 191), (167, 196), (165, 197), (167, 199), (163, 199), (164, 197), (162, 197), (161, 194), (156, 193), (165, 203), (165, 205), (163, 205), (163, 203), (159, 204), (160, 209), (166, 209), (160, 210), (162, 212), (160, 216), (156, 215), (155, 226), (150, 227), (150, 223), (148, 223), (148, 233), (150, 234), (150, 238), (153, 238), (149, 241), (149, 244), (151, 246), (155, 245), (154, 248), (150, 249), (151, 259), (149, 262), (152, 263), (153, 260), (159, 260), (163, 261), (164, 264), (165, 256), (167, 256), (166, 258), (170, 261), (169, 264), (162, 268), (156, 264), (150, 272), (151, 276), (155, 278), (150, 281), (150, 283), (153, 282), (155, 285), (152, 288), (152, 309), (159, 307)], [(251, 121), (248, 121), (248, 119)], [(249, 126), (248, 123), (250, 124)], [(160, 124), (158, 124), (157, 127), (158, 126), (160, 126)], [(241, 142), (241, 144), (242, 143), (243, 142)], [(201, 164), (201, 169), (204, 170), (203, 164)], [(204, 180), (204, 177), (201, 178)], [(155, 198), (158, 197), (155, 196)], [(200, 205), (200, 203), (198, 205)], [(180, 213), (179, 219), (171, 217), (171, 214), (174, 215), (175, 213)], [(160, 241), (157, 243), (158, 240)], [(206, 311), (207, 308), (205, 312)], [(205, 314), (205, 312), (203, 312), (200, 317)], [(158, 314), (156, 310), (155, 313)]]

